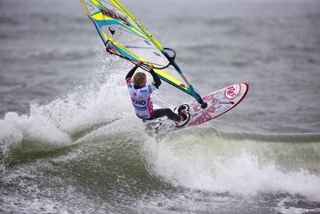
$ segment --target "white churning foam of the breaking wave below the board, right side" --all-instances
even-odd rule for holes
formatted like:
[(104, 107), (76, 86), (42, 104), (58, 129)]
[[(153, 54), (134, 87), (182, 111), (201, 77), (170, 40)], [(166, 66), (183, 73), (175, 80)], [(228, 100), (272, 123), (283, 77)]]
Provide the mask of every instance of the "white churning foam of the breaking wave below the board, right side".
[[(246, 148), (232, 151), (228, 141), (216, 143), (224, 141), (218, 136), (210, 135), (209, 142), (202, 142), (189, 133), (176, 132), (181, 139), (178, 142), (168, 134), (158, 143), (144, 145), (153, 173), (173, 185), (194, 190), (243, 196), (259, 193), (301, 195), (311, 201), (320, 201), (319, 175), (304, 168), (284, 170), (275, 160), (266, 160), (268, 150), (265, 150), (265, 156), (258, 156)], [(254, 142), (252, 144), (258, 147)]]

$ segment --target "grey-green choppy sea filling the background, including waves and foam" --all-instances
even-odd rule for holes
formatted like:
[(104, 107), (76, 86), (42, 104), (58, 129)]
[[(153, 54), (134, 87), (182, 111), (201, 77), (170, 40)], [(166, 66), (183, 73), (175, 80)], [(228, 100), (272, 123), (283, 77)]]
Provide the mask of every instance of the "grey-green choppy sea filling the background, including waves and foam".
[(201, 95), (246, 98), (150, 137), (80, 1), (1, 1), (0, 213), (320, 213), (320, 1), (121, 3)]

